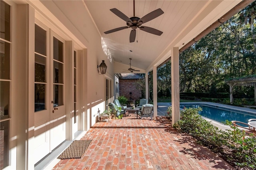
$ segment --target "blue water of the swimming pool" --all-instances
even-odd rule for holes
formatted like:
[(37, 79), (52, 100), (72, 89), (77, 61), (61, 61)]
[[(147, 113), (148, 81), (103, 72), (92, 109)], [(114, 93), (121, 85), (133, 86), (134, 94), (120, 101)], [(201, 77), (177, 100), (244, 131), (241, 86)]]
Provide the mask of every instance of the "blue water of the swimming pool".
[(180, 105), (180, 108), (198, 108), (201, 107), (200, 115), (212, 119), (214, 121), (224, 123), (228, 121), (240, 121), (247, 123), (249, 119), (256, 119), (256, 114), (238, 112), (238, 111), (229, 111), (228, 109), (222, 109), (220, 107), (210, 107), (205, 105)]

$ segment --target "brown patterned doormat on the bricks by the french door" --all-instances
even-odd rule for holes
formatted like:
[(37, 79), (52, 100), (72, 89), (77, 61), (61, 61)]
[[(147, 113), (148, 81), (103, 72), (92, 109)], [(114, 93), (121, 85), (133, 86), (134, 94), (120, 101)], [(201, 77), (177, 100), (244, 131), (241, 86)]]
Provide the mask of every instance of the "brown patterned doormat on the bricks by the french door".
[(82, 158), (82, 155), (91, 142), (92, 140), (74, 140), (74, 142), (72, 142), (70, 146), (58, 156), (58, 159)]

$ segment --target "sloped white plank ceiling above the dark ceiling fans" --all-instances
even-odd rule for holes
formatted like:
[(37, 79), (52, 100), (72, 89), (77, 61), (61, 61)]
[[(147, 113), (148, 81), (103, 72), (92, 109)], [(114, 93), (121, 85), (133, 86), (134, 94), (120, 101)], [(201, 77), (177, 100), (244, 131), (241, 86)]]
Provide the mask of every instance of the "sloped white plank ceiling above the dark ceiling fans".
[[(132, 58), (132, 68), (140, 69), (143, 73), (170, 57), (172, 47), (184, 46), (240, 1), (135, 0), (135, 16), (139, 18), (158, 8), (164, 14), (142, 24), (162, 31), (161, 36), (137, 29), (133, 43), (129, 42), (132, 28), (104, 34), (108, 30), (126, 26), (126, 22), (110, 9), (117, 8), (130, 18), (134, 16), (133, 0), (84, 0), (84, 3), (115, 61), (115, 73), (129, 73), (124, 72), (124, 68), (130, 67), (129, 58)], [(58, 5), (58, 1), (55, 3)]]

